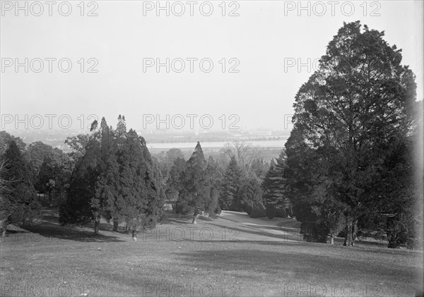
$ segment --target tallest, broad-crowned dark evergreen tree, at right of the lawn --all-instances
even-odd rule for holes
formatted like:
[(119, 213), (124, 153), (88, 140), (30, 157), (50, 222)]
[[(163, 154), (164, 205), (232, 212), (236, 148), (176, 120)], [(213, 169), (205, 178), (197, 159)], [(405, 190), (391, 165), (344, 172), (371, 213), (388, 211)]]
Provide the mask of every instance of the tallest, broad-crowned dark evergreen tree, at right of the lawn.
[(387, 199), (371, 195), (371, 185), (382, 178), (391, 140), (408, 137), (415, 123), (415, 76), (383, 36), (359, 22), (338, 30), (296, 95), (285, 145), (296, 217), (321, 226), (338, 222), (323, 222), (322, 214), (342, 212), (346, 246), (354, 243), (358, 219), (376, 199)]

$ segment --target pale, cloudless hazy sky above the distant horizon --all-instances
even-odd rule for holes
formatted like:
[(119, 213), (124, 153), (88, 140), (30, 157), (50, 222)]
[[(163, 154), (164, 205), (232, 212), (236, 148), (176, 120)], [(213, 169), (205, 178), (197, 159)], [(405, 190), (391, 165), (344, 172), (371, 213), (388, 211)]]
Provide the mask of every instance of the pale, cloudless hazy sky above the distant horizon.
[[(105, 116), (112, 126), (124, 114), (127, 126), (138, 129), (143, 115), (145, 127), (155, 128), (156, 119), (149, 115), (157, 114), (161, 119), (169, 114), (171, 124), (182, 126), (176, 116), (181, 114), (184, 128), (189, 128), (187, 114), (198, 116), (192, 116), (194, 123), (211, 115), (204, 116), (203, 125), (213, 119), (214, 128), (230, 123), (284, 128), (283, 115), (293, 114), (295, 94), (312, 74), (313, 61), (325, 53), (343, 21), (354, 20), (384, 30), (385, 40), (403, 49), (402, 63), (416, 73), (418, 98), (423, 98), (423, 1), (302, 1), (304, 10), (298, 1), (160, 1), (169, 5), (170, 16), (156, 10), (157, 1), (87, 1), (83, 11), (80, 1), (69, 1), (69, 16), (61, 16), (69, 8), (64, 1), (52, 6), (52, 16), (45, 1), (25, 2), (16, 11), (15, 1), (1, 1), (1, 128), (6, 130), (16, 125), (16, 114), (24, 121), (28, 115), (29, 128), (49, 128), (49, 117), (52, 128), (60, 127), (59, 117), (61, 126), (71, 119), (78, 128), (83, 118), (88, 126), (90, 114)], [(211, 16), (204, 16), (210, 6)], [(182, 16), (175, 16), (182, 8)], [(90, 12), (98, 16), (87, 16)], [(25, 64), (25, 58), (28, 73), (24, 66), (16, 72), (16, 59)], [(143, 71), (143, 63), (166, 63), (167, 58), (169, 73), (165, 66)], [(62, 72), (68, 61), (69, 72)], [(184, 71), (177, 72), (181, 61)], [(207, 73), (210, 61), (213, 68)], [(285, 69), (293, 61), (296, 65)], [(300, 71), (299, 61), (305, 64)], [(88, 73), (90, 66), (97, 73)]]

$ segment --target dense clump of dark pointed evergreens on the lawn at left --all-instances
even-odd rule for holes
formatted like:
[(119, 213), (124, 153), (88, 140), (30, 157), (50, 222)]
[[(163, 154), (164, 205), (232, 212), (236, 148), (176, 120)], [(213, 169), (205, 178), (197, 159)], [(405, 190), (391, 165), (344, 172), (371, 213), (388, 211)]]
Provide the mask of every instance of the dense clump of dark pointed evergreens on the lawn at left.
[(60, 208), (64, 224), (95, 222), (100, 218), (126, 222), (135, 234), (145, 226), (155, 226), (162, 215), (165, 195), (160, 173), (153, 166), (146, 141), (136, 131), (126, 131), (125, 118), (118, 118), (116, 131), (102, 119), (94, 122), (92, 134), (73, 170), (69, 195)]

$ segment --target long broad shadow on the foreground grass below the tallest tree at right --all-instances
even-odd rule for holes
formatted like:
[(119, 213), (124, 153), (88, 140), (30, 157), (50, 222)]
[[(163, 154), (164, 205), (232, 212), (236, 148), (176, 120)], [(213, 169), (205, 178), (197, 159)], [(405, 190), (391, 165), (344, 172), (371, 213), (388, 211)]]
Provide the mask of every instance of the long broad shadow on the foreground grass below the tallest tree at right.
[(276, 252), (260, 249), (213, 249), (174, 253), (174, 255), (177, 259), (184, 261), (184, 265), (202, 267), (202, 269), (216, 272), (229, 272), (240, 279), (260, 280), (264, 278), (264, 274), (269, 274), (270, 279), (287, 276), (292, 281), (314, 279), (315, 283), (325, 284), (328, 284), (328, 281), (341, 284), (346, 282), (363, 284), (364, 279), (367, 279), (368, 284), (383, 284), (382, 281), (385, 286), (394, 284), (391, 289), (402, 285), (404, 289), (410, 288), (415, 291), (415, 287), (419, 286), (419, 280), (416, 279), (413, 269), (401, 263), (382, 267), (379, 258), (369, 260), (346, 257), (341, 260), (334, 255), (314, 255), (309, 253), (308, 248), (299, 247), (298, 250), (282, 249)]

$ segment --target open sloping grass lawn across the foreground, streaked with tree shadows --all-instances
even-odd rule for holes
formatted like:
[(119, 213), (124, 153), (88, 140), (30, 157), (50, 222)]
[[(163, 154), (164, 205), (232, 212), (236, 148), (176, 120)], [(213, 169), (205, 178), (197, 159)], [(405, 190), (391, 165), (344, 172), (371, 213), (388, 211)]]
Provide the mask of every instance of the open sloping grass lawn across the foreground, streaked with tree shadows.
[(106, 223), (94, 237), (45, 214), (1, 242), (0, 296), (416, 296), (423, 286), (420, 251), (305, 243), (234, 220), (194, 225), (172, 215), (134, 242)]

